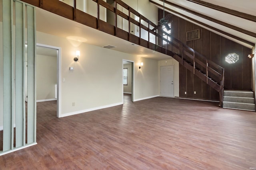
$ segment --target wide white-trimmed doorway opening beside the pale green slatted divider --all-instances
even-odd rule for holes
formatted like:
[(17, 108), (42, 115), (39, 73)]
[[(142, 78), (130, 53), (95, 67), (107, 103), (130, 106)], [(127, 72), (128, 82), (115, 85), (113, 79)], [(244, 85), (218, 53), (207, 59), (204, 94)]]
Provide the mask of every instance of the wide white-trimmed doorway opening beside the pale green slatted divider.
[[(56, 117), (61, 113), (61, 72), (60, 54), (61, 48), (44, 44), (36, 44), (37, 48), (37, 102), (57, 100)], [(47, 69), (47, 72), (44, 70)], [(41, 75), (40, 75), (41, 74)], [(45, 77), (45, 78), (42, 78)]]

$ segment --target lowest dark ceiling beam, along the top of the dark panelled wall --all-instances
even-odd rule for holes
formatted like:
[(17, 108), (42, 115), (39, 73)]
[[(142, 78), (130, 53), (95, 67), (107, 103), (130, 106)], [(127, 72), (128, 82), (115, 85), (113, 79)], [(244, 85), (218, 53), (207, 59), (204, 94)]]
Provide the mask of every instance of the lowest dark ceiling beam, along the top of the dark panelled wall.
[(177, 14), (177, 15), (182, 16), (182, 17), (184, 17), (184, 18), (186, 18), (186, 19), (188, 19), (188, 20), (190, 20), (190, 21), (193, 21), (193, 22), (195, 22), (195, 23), (198, 23), (199, 25), (203, 25), (203, 26), (205, 26), (205, 27), (208, 27), (209, 29), (212, 29), (212, 30), (214, 30), (214, 31), (217, 31), (217, 32), (219, 32), (219, 33), (222, 33), (222, 34), (224, 34), (224, 35), (227, 35), (228, 37), (234, 38), (234, 39), (236, 39), (236, 40), (238, 40), (238, 41), (241, 41), (241, 42), (243, 42), (243, 43), (246, 43), (246, 44), (248, 44), (248, 45), (250, 45), (250, 46), (252, 46), (252, 47), (254, 47), (254, 45), (255, 45), (255, 43), (253, 43), (253, 42), (247, 41), (247, 40), (245, 40), (245, 39), (242, 39), (242, 38), (240, 38), (240, 37), (237, 37), (237, 36), (235, 36), (235, 35), (232, 35), (232, 34), (230, 34), (230, 33), (227, 33), (227, 32), (225, 32), (225, 31), (222, 31), (222, 30), (220, 30), (220, 29), (217, 29), (217, 28), (215, 28), (215, 27), (212, 27), (212, 26), (210, 26), (210, 25), (207, 25), (206, 23), (202, 23), (202, 22), (200, 22), (200, 21), (198, 21), (198, 20), (195, 20), (195, 19), (193, 19), (193, 18), (190, 18), (190, 17), (188, 17), (188, 16), (186, 16), (186, 15), (184, 15), (184, 14), (181, 14), (181, 13), (179, 13), (179, 12), (176, 12), (176, 11), (170, 9), (170, 8), (167, 8), (166, 6), (164, 7), (164, 6), (162, 6), (162, 5), (160, 5), (160, 4), (156, 3), (156, 2), (154, 2), (154, 1), (152, 1), (152, 0), (149, 0), (149, 1), (150, 1), (151, 3), (157, 5), (157, 6), (160, 6), (161, 8), (165, 8), (166, 10), (168, 10), (168, 11), (170, 11), (170, 12), (173, 12), (174, 14)]

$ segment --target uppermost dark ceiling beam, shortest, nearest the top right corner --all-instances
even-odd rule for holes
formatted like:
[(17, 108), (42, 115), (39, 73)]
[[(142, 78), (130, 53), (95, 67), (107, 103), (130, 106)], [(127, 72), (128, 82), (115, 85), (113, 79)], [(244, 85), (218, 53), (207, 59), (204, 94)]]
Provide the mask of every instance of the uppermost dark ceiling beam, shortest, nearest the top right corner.
[(226, 14), (230, 14), (230, 15), (233, 15), (233, 16), (237, 16), (237, 17), (249, 20), (249, 21), (256, 22), (256, 16), (252, 16), (250, 14), (246, 14), (246, 13), (243, 13), (243, 12), (238, 12), (236, 10), (231, 10), (231, 9), (228, 9), (228, 8), (225, 8), (225, 7), (222, 7), (222, 6), (214, 5), (214, 4), (211, 4), (211, 3), (208, 3), (208, 2), (204, 2), (202, 0), (187, 0), (187, 1), (194, 2), (196, 4), (199, 4), (199, 5), (214, 9), (214, 10), (218, 10), (220, 12), (224, 12)]

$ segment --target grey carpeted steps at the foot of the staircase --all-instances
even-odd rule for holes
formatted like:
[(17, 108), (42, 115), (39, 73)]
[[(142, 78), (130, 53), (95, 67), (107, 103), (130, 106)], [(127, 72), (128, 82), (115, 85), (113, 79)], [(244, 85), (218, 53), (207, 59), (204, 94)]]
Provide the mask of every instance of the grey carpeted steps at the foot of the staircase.
[(223, 108), (255, 111), (253, 92), (224, 90)]

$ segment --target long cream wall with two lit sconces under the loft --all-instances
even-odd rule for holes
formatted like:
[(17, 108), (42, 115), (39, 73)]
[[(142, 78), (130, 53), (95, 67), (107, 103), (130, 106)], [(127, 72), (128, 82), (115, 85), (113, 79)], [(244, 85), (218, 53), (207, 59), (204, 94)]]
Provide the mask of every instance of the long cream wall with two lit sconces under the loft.
[[(37, 32), (37, 43), (61, 47), (61, 75), (65, 82), (61, 84), (60, 117), (122, 104), (123, 59), (135, 64), (134, 100), (158, 96), (156, 60), (86, 43), (74, 47), (66, 38), (42, 32)], [(73, 60), (76, 50), (80, 50), (79, 62)], [(138, 68), (140, 62), (144, 62), (143, 70)]]

